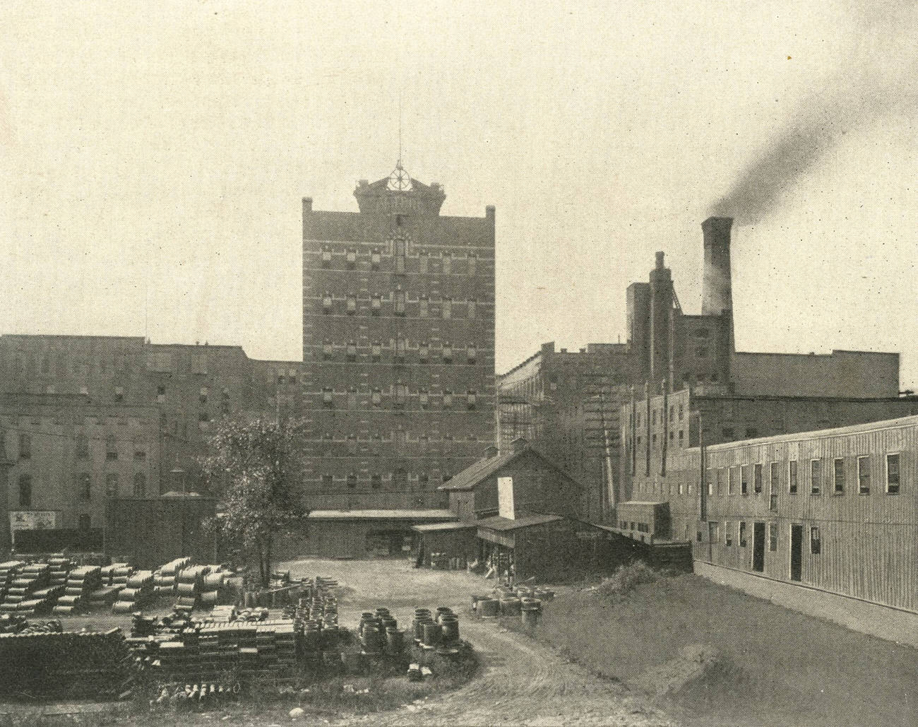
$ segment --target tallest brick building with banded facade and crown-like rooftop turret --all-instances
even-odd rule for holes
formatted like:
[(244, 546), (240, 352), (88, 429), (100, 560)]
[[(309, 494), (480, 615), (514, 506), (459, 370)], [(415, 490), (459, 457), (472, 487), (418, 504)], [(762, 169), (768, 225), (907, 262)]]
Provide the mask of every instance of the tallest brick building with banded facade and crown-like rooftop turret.
[(436, 508), (495, 436), (494, 207), (443, 216), (400, 163), (354, 196), (303, 200), (308, 507)]

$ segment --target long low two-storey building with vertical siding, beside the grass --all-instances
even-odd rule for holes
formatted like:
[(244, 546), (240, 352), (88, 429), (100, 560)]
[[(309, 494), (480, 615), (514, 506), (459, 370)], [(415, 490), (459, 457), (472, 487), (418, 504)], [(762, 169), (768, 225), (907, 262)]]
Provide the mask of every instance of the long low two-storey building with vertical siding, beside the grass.
[(666, 523), (666, 539), (692, 542), (696, 570), (730, 582), (733, 571), (918, 613), (916, 471), (916, 416), (677, 449), (665, 470), (638, 470), (641, 505), (618, 525), (649, 535)]

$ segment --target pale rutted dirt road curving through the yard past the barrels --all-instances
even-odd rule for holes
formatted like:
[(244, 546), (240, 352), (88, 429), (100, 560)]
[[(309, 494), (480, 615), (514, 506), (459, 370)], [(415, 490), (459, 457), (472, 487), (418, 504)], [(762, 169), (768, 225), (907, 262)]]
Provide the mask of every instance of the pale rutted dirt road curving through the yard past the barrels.
[[(460, 614), (460, 628), (482, 661), (480, 673), (464, 688), (420, 704), (337, 724), (395, 725), (501, 724), (671, 725), (627, 688), (590, 675), (542, 644), (495, 623), (475, 621), (469, 595), (487, 589), (480, 576), (414, 569), (402, 561), (300, 561), (286, 564), (294, 576), (335, 576), (345, 587), (342, 620), (359, 621), (360, 612), (386, 606), (406, 624), (413, 610), (449, 606)], [(335, 723), (335, 722), (332, 722)]]

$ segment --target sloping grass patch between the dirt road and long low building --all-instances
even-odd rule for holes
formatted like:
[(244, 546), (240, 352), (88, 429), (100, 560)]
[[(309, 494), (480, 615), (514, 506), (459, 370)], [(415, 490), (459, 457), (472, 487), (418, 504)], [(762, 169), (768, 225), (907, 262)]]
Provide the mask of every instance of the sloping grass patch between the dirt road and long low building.
[(693, 649), (716, 654), (699, 678), (663, 698), (689, 723), (918, 724), (912, 648), (692, 574), (627, 566), (555, 598), (532, 636), (642, 690), (642, 677), (667, 674)]

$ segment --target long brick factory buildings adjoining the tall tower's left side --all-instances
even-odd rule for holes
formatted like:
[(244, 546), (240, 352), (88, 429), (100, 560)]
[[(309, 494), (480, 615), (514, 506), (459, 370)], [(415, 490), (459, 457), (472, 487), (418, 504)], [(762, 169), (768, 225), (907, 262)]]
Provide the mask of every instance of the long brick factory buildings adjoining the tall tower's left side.
[[(195, 458), (214, 420), (238, 411), (286, 416), (297, 404), (299, 368), (298, 362), (254, 361), (240, 346), (0, 336), (0, 438), (10, 463), (6, 480), (0, 468), (0, 484), (9, 485), (10, 511), (20, 513), (22, 526), (39, 522), (38, 515), (21, 514), (31, 509), (58, 513), (53, 520), (59, 529), (73, 529), (77, 521), (95, 529), (106, 498), (193, 489)], [(77, 423), (90, 421), (92, 426)], [(128, 453), (129, 444), (121, 442), (134, 427), (143, 430), (146, 454)], [(95, 460), (87, 454), (87, 438), (107, 446), (109, 435), (125, 452), (106, 450), (105, 471), (89, 466)], [(25, 458), (21, 438), (28, 442)], [(135, 438), (132, 433), (131, 442)], [(126, 463), (140, 469), (121, 471)], [(151, 463), (155, 472), (147, 471)], [(21, 476), (29, 498), (20, 497)], [(86, 492), (92, 493), (88, 499)], [(2, 542), (0, 537), (0, 547)]]

